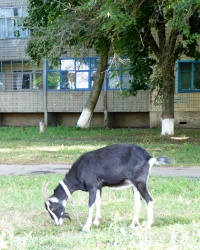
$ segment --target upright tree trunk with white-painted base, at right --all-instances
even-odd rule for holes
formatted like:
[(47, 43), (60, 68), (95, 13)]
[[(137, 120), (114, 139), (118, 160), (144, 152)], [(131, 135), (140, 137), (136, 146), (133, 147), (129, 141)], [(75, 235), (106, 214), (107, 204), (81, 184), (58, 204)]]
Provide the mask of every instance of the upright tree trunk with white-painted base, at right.
[(174, 62), (161, 66), (163, 75), (162, 131), (161, 135), (174, 134)]

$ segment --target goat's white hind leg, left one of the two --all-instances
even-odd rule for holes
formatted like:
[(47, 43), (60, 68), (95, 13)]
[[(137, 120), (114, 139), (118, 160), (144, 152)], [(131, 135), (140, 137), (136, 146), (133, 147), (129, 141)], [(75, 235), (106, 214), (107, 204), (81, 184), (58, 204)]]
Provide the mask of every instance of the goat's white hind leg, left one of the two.
[(130, 225), (131, 228), (134, 228), (135, 226), (140, 224), (139, 216), (140, 216), (140, 211), (141, 211), (141, 206), (142, 206), (140, 192), (138, 191), (136, 187), (133, 187), (133, 191), (134, 191), (135, 214), (133, 216), (133, 221)]

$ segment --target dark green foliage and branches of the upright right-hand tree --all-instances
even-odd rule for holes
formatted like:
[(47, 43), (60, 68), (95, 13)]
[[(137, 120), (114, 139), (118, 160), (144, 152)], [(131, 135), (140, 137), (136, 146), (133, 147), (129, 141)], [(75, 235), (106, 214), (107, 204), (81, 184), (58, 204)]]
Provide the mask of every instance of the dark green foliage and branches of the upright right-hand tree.
[[(133, 76), (130, 94), (139, 89), (162, 87), (164, 70), (181, 55), (200, 58), (199, 0), (108, 0), (101, 16), (116, 51), (130, 58)], [(152, 77), (152, 66), (161, 71)], [(169, 72), (168, 72), (169, 73)]]

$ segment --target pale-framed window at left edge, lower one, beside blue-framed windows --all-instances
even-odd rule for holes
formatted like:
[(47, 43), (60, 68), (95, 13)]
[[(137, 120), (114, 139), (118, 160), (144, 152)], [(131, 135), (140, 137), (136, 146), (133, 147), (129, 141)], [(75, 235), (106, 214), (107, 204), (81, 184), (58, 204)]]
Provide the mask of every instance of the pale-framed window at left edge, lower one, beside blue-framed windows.
[(28, 61), (0, 62), (0, 91), (43, 89), (43, 70)]

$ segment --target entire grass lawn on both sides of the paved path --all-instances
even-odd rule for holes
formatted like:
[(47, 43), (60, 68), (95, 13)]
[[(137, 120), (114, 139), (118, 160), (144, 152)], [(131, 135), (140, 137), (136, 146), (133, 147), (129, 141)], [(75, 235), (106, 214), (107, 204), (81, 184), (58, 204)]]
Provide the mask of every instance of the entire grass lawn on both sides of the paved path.
[[(80, 154), (113, 143), (134, 143), (153, 156), (166, 155), (172, 166), (200, 166), (200, 130), (177, 129), (174, 136), (161, 136), (159, 129), (0, 128), (0, 164), (71, 164)], [(131, 189), (104, 188), (102, 221), (88, 234), (80, 232), (76, 219), (87, 219), (88, 193), (75, 192), (75, 210), (70, 202), (71, 221), (56, 227), (42, 199), (42, 184), (50, 181), (52, 194), (61, 174), (0, 176), (0, 250), (54, 249), (200, 249), (200, 178), (150, 177), (149, 192), (154, 199), (152, 230), (130, 229), (134, 213)], [(141, 223), (146, 220), (143, 203)]]

